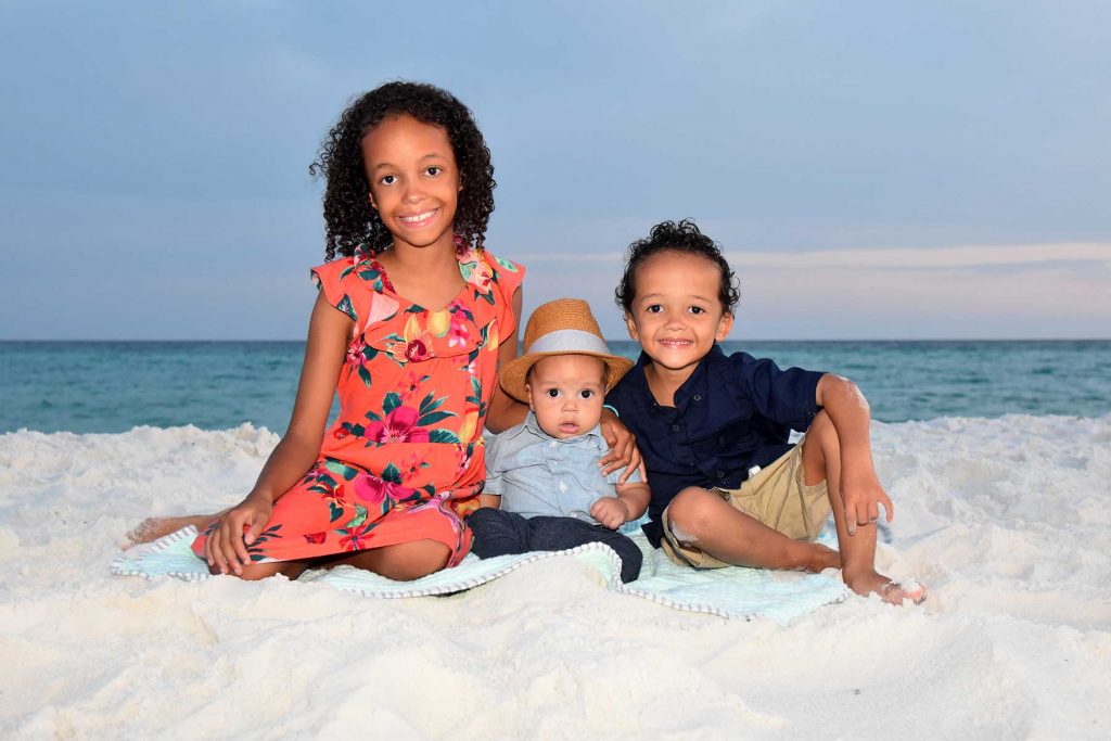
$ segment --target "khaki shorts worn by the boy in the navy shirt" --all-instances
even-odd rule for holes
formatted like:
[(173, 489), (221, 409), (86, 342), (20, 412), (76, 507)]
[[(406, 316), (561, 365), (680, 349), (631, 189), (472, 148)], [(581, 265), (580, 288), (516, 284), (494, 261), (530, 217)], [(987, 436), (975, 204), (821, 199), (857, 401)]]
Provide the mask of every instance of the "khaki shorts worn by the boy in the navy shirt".
[[(792, 540), (813, 540), (821, 532), (831, 508), (825, 481), (807, 485), (802, 470), (802, 442), (783, 453), (743, 483), (740, 489), (711, 489), (732, 505)], [(671, 531), (663, 510), (663, 540), (660, 545), (672, 561), (695, 569), (729, 565), (699, 549), (681, 543)]]

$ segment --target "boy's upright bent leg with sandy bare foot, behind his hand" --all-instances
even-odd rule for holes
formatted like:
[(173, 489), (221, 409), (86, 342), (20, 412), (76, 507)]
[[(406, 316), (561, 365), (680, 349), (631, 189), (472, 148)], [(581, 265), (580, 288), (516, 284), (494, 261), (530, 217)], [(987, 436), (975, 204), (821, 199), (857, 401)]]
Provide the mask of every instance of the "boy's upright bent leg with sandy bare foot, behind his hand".
[(838, 547), (841, 549), (841, 578), (858, 594), (875, 593), (885, 602), (901, 604), (903, 599), (921, 602), (925, 597), (919, 588), (912, 592), (875, 571), (875, 523), (858, 524), (857, 533), (849, 534), (844, 521), (844, 501), (841, 499), (841, 445), (833, 422), (822, 411), (814, 418), (802, 441), (802, 468), (808, 485), (825, 479), (833, 522), (837, 524)]

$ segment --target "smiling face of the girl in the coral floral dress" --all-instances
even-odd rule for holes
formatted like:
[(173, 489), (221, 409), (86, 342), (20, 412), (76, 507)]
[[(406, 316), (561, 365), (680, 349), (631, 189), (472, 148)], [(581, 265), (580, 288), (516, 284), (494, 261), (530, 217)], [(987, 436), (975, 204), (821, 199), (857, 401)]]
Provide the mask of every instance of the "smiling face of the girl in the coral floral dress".
[(459, 169), (448, 132), (411, 116), (383, 119), (362, 138), (370, 204), (393, 246), (450, 247), (459, 204)]

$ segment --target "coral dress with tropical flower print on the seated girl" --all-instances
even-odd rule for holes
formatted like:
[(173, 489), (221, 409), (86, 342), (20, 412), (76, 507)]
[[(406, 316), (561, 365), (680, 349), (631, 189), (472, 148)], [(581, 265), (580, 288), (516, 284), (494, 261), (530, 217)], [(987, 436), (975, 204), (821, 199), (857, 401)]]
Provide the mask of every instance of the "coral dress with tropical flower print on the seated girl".
[[(501, 337), (516, 329), (524, 269), (469, 250), (466, 281), (442, 310), (393, 290), (357, 254), (312, 269), (328, 302), (354, 322), (340, 370), (340, 413), (320, 459), (274, 502), (251, 560), (289, 561), (430, 539), (456, 565), (471, 544), (462, 518), (484, 483), (482, 422), (498, 382)], [(193, 541), (203, 557), (206, 535)]]

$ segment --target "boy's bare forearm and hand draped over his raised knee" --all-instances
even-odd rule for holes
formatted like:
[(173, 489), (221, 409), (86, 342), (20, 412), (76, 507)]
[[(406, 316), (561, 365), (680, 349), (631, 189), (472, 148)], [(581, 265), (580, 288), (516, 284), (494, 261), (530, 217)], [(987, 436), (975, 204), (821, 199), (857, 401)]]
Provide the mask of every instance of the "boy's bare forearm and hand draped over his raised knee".
[(815, 400), (829, 414), (841, 448), (841, 498), (849, 534), (857, 532), (858, 524), (875, 522), (879, 504), (891, 522), (894, 508), (872, 463), (872, 414), (864, 394), (849, 379), (825, 373), (818, 382)]

